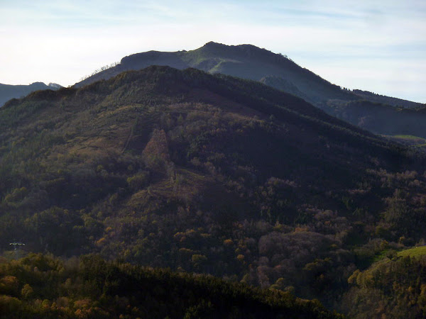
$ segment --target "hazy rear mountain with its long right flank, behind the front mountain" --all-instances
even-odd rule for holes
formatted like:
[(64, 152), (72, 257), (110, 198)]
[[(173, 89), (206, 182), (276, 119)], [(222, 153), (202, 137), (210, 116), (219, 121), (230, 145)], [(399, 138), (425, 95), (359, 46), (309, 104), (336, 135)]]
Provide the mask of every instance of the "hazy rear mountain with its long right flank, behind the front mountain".
[[(222, 73), (260, 81), (299, 96), (330, 115), (373, 133), (408, 134), (426, 138), (426, 128), (422, 125), (426, 120), (424, 104), (379, 96), (367, 91), (341, 89), (287, 57), (254, 45), (209, 42), (191, 51), (137, 53), (124, 57), (119, 65), (94, 74), (75, 86), (81, 87), (99, 79), (109, 79), (126, 70), (143, 69), (150, 65), (168, 65), (177, 69), (194, 67), (211, 74)], [(401, 107), (422, 110), (401, 110)], [(376, 122), (380, 124), (375, 125)]]

